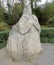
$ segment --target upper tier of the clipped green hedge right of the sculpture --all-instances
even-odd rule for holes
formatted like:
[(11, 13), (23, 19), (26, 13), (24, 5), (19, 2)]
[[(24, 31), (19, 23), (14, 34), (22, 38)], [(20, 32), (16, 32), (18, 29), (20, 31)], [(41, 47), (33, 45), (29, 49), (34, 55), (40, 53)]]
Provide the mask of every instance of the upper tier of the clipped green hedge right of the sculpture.
[(41, 37), (54, 37), (54, 28), (42, 28)]

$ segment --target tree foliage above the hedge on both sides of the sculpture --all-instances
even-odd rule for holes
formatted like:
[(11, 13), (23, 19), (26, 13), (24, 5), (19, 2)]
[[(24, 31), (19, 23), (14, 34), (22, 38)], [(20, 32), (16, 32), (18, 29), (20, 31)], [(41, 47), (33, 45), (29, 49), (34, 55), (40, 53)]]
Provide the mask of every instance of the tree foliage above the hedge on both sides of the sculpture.
[[(0, 23), (3, 21), (12, 27), (16, 24), (20, 17), (22, 16), (23, 7), (21, 3), (15, 3), (14, 6), (11, 6), (8, 3), (8, 11), (4, 7), (0, 6)], [(33, 8), (32, 12), (38, 17), (39, 23), (44, 26), (54, 27), (54, 2), (45, 4), (44, 8), (36, 6)]]

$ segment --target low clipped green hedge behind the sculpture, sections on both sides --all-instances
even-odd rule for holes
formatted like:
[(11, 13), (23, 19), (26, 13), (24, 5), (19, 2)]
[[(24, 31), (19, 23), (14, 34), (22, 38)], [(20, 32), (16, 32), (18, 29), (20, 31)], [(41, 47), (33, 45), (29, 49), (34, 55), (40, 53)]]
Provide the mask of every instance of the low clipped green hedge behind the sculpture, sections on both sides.
[[(0, 32), (0, 49), (5, 47), (9, 31)], [(42, 28), (40, 35), (41, 43), (54, 43), (54, 28)]]

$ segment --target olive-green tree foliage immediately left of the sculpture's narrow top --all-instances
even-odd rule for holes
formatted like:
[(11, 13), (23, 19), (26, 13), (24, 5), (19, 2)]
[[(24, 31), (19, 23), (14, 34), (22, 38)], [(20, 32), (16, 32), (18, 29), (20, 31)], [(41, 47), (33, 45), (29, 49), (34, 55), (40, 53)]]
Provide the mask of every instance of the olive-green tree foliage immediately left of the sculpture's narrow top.
[(21, 4), (15, 3), (13, 7), (12, 15), (13, 15), (15, 22), (18, 22), (18, 20), (20, 19), (22, 15), (22, 5)]

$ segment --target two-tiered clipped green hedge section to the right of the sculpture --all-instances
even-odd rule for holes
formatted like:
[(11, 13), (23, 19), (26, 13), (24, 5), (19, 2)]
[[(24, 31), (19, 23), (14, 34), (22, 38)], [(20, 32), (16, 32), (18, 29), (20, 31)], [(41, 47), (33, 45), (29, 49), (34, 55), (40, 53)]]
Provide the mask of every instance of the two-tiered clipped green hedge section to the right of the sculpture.
[(42, 43), (54, 43), (54, 28), (42, 28), (40, 39)]

